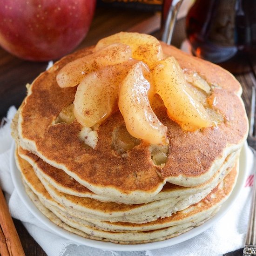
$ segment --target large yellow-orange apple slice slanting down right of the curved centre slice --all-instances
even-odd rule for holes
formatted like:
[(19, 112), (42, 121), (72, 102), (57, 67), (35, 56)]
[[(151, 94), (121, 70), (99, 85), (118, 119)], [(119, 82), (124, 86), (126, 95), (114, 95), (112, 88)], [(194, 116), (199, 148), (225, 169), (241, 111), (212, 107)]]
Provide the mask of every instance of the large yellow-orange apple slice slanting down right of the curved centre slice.
[(168, 111), (168, 116), (184, 130), (195, 131), (215, 124), (206, 109), (193, 97), (185, 76), (174, 57), (159, 62), (153, 70), (155, 91)]

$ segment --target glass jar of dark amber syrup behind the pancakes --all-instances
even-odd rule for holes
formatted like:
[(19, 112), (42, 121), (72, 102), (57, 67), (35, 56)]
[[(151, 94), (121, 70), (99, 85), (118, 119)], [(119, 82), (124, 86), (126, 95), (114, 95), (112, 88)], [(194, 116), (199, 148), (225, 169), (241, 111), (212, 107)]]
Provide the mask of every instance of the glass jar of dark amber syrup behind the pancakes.
[(186, 29), (194, 55), (234, 74), (256, 65), (256, 0), (195, 0)]

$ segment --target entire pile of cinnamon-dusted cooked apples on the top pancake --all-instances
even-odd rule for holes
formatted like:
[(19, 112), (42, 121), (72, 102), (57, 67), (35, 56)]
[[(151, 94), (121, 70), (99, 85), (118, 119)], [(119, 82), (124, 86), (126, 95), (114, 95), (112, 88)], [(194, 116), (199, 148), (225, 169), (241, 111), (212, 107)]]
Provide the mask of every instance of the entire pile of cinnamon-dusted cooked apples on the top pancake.
[[(153, 36), (121, 32), (100, 40), (94, 52), (68, 63), (57, 74), (61, 88), (77, 86), (74, 105), (58, 120), (83, 127), (80, 139), (96, 147), (95, 125), (120, 110), (126, 127), (113, 131), (112, 148), (118, 154), (141, 143), (151, 144), (152, 161), (168, 158), (167, 127), (155, 115), (166, 111), (186, 131), (215, 126), (223, 121), (210, 102), (212, 86), (199, 74), (182, 71), (174, 57), (163, 59)], [(153, 146), (152, 146), (153, 145)]]

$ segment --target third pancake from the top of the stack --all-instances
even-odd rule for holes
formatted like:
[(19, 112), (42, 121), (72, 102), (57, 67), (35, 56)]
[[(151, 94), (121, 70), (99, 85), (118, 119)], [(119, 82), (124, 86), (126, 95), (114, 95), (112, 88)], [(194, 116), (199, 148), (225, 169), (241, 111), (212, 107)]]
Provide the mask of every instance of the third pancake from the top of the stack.
[[(170, 216), (173, 212), (187, 208), (189, 205), (199, 202), (203, 197), (209, 194), (214, 188), (208, 188), (201, 193), (188, 196), (177, 196), (175, 198), (159, 200), (148, 204), (118, 204), (115, 202), (100, 202), (90, 198), (79, 198), (73, 195), (67, 195), (54, 189), (40, 175), (35, 175), (34, 170), (28, 162), (20, 159), (16, 153), (17, 162), (25, 181), (39, 186), (44, 196), (63, 206), (68, 213), (73, 216), (85, 218), (86, 220), (96, 219), (105, 221), (126, 221), (133, 223), (143, 223), (156, 220), (158, 217)], [(41, 185), (43, 184), (43, 186)], [(40, 184), (40, 185), (39, 185)], [(48, 195), (49, 194), (49, 195)], [(56, 205), (56, 203), (55, 203)], [(58, 205), (56, 205), (59, 207)]]

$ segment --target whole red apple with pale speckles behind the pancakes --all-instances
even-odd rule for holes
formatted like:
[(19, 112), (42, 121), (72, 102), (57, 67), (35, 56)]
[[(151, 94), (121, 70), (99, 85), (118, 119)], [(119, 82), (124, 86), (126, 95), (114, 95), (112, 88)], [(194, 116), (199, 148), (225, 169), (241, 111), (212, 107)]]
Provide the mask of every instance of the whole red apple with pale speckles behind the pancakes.
[(22, 59), (49, 61), (86, 36), (96, 0), (1, 0), (0, 46)]

